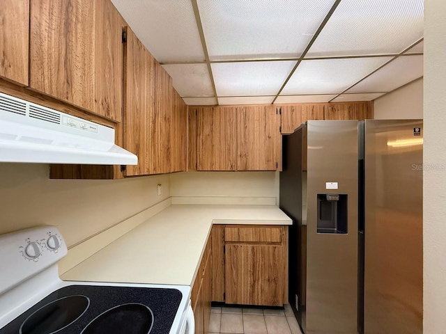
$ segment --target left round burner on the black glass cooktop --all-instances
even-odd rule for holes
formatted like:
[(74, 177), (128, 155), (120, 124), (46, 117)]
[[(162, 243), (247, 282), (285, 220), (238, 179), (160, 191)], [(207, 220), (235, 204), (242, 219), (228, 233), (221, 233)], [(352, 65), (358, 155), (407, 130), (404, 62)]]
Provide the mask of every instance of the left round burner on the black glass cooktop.
[(23, 321), (19, 334), (52, 334), (70, 326), (89, 308), (90, 299), (86, 296), (67, 296), (33, 312)]

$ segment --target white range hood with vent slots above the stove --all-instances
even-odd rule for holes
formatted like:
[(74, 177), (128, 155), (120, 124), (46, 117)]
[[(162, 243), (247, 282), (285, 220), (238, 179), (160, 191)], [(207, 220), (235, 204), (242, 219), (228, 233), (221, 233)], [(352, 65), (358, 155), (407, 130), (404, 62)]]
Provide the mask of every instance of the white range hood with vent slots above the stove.
[(114, 129), (0, 93), (0, 162), (136, 165)]

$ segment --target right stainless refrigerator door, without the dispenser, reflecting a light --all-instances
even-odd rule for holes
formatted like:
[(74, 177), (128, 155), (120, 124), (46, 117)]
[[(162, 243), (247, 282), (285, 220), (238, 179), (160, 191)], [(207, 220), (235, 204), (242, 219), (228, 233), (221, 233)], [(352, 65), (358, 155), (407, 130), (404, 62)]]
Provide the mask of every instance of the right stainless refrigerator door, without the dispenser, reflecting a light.
[(422, 120), (367, 120), (360, 133), (364, 333), (422, 333)]

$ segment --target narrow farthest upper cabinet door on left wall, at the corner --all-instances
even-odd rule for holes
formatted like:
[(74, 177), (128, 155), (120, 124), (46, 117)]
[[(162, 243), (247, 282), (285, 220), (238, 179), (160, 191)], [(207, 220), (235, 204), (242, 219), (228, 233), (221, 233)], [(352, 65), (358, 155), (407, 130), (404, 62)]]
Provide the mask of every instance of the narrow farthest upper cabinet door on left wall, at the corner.
[(173, 113), (171, 128), (171, 172), (186, 170), (186, 126), (187, 126), (187, 105), (172, 88)]

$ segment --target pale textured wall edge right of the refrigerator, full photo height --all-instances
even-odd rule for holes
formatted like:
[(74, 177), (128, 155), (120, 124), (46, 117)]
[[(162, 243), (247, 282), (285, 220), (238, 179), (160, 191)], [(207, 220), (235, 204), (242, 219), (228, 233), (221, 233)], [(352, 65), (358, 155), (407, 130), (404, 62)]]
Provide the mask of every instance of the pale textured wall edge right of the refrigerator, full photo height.
[(446, 331), (446, 1), (424, 1), (424, 324)]

